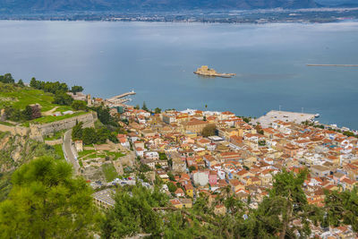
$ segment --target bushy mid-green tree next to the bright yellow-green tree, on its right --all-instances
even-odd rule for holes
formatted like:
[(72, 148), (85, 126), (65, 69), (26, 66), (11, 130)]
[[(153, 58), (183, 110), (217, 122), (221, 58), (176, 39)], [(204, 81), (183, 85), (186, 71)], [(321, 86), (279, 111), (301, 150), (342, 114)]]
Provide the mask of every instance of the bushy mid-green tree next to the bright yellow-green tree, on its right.
[(164, 220), (153, 208), (166, 205), (167, 197), (158, 187), (149, 190), (137, 184), (118, 190), (115, 208), (106, 212), (101, 224), (103, 238), (123, 238), (140, 233), (160, 237)]

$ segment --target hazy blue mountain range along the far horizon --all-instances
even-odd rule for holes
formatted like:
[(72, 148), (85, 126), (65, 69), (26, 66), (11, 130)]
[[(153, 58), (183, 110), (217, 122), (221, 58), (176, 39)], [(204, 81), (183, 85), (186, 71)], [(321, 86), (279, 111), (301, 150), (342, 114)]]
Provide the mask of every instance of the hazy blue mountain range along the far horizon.
[(0, 13), (312, 8), (356, 0), (0, 0)]

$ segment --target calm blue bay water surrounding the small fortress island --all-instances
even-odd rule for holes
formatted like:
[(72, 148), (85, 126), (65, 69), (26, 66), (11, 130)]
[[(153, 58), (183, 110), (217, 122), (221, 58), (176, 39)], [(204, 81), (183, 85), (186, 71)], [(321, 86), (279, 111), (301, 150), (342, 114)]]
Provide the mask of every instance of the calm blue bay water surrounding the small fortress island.
[[(319, 113), (358, 129), (358, 23), (201, 24), (0, 21), (0, 73), (66, 81), (107, 98), (127, 90), (151, 108), (208, 105), (260, 116), (270, 109)], [(209, 64), (232, 79), (192, 72)]]

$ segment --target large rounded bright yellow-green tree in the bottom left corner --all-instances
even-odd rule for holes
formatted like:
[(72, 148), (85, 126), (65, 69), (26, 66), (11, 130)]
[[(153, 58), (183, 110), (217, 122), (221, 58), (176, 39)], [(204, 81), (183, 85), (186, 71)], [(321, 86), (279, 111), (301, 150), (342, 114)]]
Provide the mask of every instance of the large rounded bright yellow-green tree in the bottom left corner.
[(65, 161), (41, 157), (17, 169), (0, 204), (1, 238), (87, 238), (94, 229), (91, 190)]

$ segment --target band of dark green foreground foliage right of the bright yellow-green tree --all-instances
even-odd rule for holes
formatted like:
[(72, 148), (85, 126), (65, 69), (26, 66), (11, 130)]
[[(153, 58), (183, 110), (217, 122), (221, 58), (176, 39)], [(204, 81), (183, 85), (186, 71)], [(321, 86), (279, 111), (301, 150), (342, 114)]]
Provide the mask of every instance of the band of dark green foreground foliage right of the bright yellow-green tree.
[[(141, 184), (116, 192), (115, 208), (101, 224), (103, 238), (148, 235), (150, 238), (309, 238), (311, 225), (358, 226), (358, 194), (330, 192), (327, 207), (308, 204), (303, 192), (306, 171), (274, 176), (273, 188), (258, 209), (238, 200), (231, 188), (217, 194), (211, 204), (200, 194), (192, 209), (175, 209), (157, 186), (149, 190)], [(337, 205), (337, 203), (339, 205)], [(215, 213), (225, 205), (226, 213)]]

